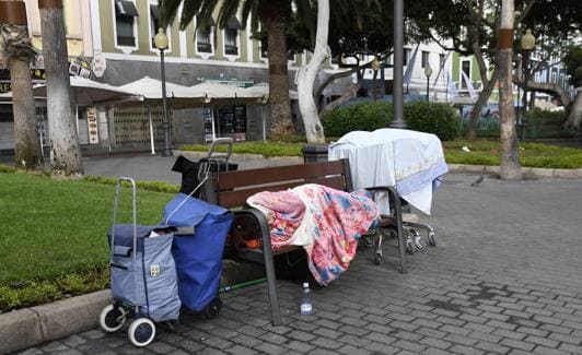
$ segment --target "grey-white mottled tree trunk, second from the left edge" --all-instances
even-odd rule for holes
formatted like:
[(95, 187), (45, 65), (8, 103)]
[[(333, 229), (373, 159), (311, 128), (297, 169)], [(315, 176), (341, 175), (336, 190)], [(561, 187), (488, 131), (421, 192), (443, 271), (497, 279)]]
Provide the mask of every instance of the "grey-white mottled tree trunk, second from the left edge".
[(71, 109), (69, 64), (62, 4), (39, 0), (53, 176), (83, 175), (77, 122)]

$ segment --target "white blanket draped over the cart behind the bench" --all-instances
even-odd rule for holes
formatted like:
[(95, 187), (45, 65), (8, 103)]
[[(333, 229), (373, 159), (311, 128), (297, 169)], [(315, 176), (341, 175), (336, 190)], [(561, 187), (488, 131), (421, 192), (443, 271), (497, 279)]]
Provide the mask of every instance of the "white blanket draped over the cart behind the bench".
[[(426, 214), (431, 212), (433, 188), (447, 171), (436, 135), (403, 129), (350, 132), (329, 145), (328, 158), (350, 161), (354, 189), (395, 187), (403, 199)], [(387, 194), (376, 198), (381, 211), (387, 213)]]

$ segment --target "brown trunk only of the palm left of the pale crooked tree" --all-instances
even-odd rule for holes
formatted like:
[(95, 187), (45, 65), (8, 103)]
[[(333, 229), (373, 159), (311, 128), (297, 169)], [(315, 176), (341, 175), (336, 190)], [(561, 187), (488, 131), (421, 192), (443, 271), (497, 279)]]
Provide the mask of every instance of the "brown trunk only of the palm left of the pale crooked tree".
[(287, 68), (287, 23), (280, 17), (266, 21), (269, 48), (270, 137), (278, 139), (294, 133), (289, 102)]

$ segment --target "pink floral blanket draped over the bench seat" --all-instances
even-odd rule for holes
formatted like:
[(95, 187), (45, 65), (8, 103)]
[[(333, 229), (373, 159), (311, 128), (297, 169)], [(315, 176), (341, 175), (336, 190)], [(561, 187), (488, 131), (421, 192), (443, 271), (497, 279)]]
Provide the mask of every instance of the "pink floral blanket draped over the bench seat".
[(247, 203), (267, 217), (272, 249), (302, 246), (310, 270), (322, 285), (348, 269), (358, 239), (379, 217), (368, 191), (348, 193), (315, 184), (259, 192), (249, 197)]

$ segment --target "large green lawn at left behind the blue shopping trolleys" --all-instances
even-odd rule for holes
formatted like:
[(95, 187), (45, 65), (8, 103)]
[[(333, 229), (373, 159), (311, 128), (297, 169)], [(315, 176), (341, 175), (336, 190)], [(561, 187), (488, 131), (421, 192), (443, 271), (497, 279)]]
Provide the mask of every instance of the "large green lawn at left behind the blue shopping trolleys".
[[(0, 173), (0, 311), (107, 285), (114, 186)], [(121, 188), (118, 222), (130, 222)], [(173, 193), (138, 190), (138, 223), (158, 224)]]

